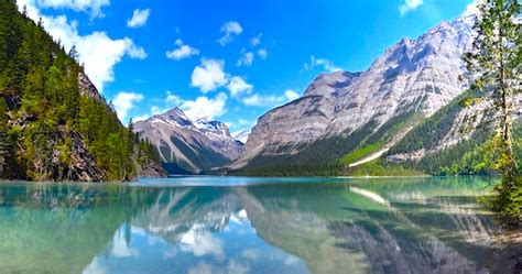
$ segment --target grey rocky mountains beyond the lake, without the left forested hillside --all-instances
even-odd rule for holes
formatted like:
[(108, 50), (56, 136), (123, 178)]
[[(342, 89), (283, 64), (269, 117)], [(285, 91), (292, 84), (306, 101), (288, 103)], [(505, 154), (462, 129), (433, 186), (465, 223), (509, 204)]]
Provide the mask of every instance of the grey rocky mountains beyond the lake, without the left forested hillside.
[[(333, 175), (378, 163), (414, 174), (447, 173), (472, 157), (465, 154), (489, 134), (477, 130), (485, 119), (474, 114), (480, 107), (461, 103), (475, 96), (467, 91), (461, 59), (471, 47), (474, 22), (475, 14), (464, 14), (416, 40), (402, 39), (363, 72), (318, 75), (301, 98), (268, 111), (251, 132), (236, 138), (244, 146), (225, 124), (213, 122), (211, 129), (224, 130), (208, 130), (180, 109), (137, 123), (135, 130), (160, 149), (165, 163), (191, 172)], [(463, 133), (465, 128), (474, 130)]]

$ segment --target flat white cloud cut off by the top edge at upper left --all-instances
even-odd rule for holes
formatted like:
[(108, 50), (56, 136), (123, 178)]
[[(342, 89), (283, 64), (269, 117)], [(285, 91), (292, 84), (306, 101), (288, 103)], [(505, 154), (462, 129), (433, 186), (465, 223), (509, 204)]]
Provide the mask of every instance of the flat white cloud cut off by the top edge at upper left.
[[(37, 4), (44, 9), (72, 9), (74, 11), (88, 12), (91, 17), (102, 17), (101, 8), (110, 4), (110, 0), (25, 0)], [(25, 1), (18, 1), (20, 7), (23, 7)]]

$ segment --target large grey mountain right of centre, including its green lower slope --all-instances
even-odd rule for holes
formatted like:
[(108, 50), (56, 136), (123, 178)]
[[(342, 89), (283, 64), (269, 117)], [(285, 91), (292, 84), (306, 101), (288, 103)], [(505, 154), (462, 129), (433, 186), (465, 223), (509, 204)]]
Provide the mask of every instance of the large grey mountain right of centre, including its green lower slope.
[[(322, 74), (304, 96), (263, 114), (230, 168), (357, 163), (378, 158), (407, 132), (463, 94), (463, 53), (472, 17), (403, 39), (361, 73)], [(356, 155), (351, 153), (356, 152)]]

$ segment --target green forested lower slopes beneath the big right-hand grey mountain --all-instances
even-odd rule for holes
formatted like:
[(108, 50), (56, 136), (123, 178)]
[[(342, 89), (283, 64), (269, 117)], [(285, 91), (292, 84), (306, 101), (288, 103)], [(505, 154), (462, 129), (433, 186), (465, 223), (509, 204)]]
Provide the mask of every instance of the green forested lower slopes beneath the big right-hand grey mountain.
[[(307, 150), (287, 156), (258, 156), (250, 165), (232, 174), (254, 176), (394, 176), (394, 175), (476, 175), (493, 174), (494, 157), (490, 140), (492, 124), (454, 129), (458, 116), (467, 109), (477, 92), (466, 91), (429, 118), (405, 113), (372, 131), (369, 124), (348, 136), (333, 136), (308, 145)], [(415, 122), (417, 121), (417, 122)], [(467, 121), (472, 123), (472, 121)], [(390, 141), (391, 136), (414, 125), (407, 134), (380, 158), (349, 167)], [(453, 132), (456, 131), (456, 132)], [(445, 143), (450, 133), (469, 136)], [(516, 158), (522, 158), (522, 122), (513, 131)], [(402, 158), (399, 157), (402, 155)], [(519, 164), (521, 166), (522, 163)]]

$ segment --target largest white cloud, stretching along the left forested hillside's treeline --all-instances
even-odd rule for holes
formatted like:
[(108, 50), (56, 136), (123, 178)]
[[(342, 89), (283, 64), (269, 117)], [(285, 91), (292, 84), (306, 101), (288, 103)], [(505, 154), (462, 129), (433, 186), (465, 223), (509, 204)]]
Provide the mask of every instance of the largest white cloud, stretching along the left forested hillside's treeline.
[[(66, 1), (64, 1), (66, 2)], [(93, 2), (93, 1), (86, 1)], [(41, 14), (40, 2), (34, 0), (19, 0), (19, 8), (26, 7), (28, 15), (37, 21), (43, 20), (43, 26), (56, 41), (70, 48), (76, 45), (79, 55), (79, 62), (84, 63), (85, 72), (90, 80), (99, 89), (104, 91), (104, 85), (115, 80), (113, 67), (121, 62), (123, 56), (143, 59), (146, 57), (145, 51), (135, 45), (129, 37), (111, 39), (106, 32), (93, 32), (88, 35), (78, 33), (78, 23), (68, 21), (66, 15), (47, 17)], [(66, 6), (53, 6), (63, 7)], [(81, 6), (78, 6), (81, 7)], [(96, 6), (95, 6), (96, 7)]]

